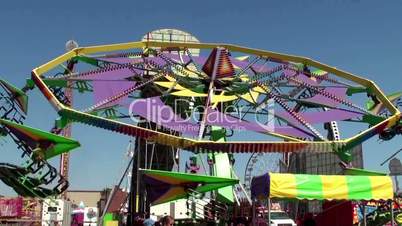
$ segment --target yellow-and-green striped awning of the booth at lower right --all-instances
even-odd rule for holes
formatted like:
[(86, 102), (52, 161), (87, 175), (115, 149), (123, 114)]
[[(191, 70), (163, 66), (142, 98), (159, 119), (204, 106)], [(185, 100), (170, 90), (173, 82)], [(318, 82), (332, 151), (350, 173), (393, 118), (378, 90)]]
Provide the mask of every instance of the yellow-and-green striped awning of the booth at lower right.
[(389, 200), (389, 176), (341, 176), (266, 173), (251, 182), (253, 198), (309, 200)]

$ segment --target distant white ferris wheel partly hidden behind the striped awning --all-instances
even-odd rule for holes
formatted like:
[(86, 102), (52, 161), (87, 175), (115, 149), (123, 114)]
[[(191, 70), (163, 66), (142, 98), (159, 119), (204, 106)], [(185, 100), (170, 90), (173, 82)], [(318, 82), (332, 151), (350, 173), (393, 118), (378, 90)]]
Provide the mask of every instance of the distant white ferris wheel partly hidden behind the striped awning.
[(261, 153), (254, 152), (247, 161), (244, 172), (244, 188), (248, 194), (251, 193), (251, 180), (267, 172), (279, 172), (280, 162), (283, 159), (282, 153)]

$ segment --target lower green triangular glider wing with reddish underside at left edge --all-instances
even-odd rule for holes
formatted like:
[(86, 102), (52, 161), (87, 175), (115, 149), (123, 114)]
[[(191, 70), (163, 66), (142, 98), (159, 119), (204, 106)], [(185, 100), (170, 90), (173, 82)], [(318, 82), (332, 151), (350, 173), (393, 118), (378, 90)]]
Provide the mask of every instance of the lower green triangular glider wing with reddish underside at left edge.
[(6, 132), (25, 141), (34, 151), (43, 152), (42, 154), (45, 159), (50, 159), (62, 153), (69, 152), (80, 146), (78, 141), (8, 120), (0, 119), (0, 125), (7, 129)]

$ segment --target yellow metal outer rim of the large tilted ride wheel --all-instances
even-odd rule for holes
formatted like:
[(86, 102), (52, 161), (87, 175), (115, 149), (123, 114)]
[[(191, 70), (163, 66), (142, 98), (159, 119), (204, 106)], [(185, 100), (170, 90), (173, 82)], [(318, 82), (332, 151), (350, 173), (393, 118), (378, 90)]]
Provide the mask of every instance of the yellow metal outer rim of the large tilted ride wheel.
[[(57, 67), (59, 64), (64, 63), (75, 56), (101, 53), (101, 52), (111, 52), (111, 51), (117, 51), (117, 50), (146, 48), (146, 47), (180, 48), (180, 49), (185, 49), (185, 48), (212, 49), (215, 47), (224, 47), (224, 48), (228, 49), (229, 51), (243, 52), (243, 53), (253, 54), (253, 55), (257, 55), (257, 56), (264, 57), (264, 58), (273, 58), (273, 59), (277, 59), (277, 60), (292, 61), (295, 63), (303, 63), (306, 65), (314, 66), (315, 68), (327, 71), (327, 72), (332, 73), (341, 78), (351, 80), (357, 84), (360, 84), (364, 87), (369, 88), (370, 91), (376, 95), (376, 97), (384, 104), (384, 106), (392, 114), (391, 117), (385, 119), (381, 123), (369, 128), (365, 131), (362, 131), (359, 134), (357, 134), (351, 138), (348, 138), (348, 139), (345, 139), (342, 141), (337, 141), (337, 142), (334, 142), (334, 141), (324, 142), (326, 144), (343, 143), (346, 145), (352, 144), (352, 146), (354, 146), (355, 143), (364, 142), (365, 140), (369, 139), (373, 135), (377, 134), (379, 131), (382, 131), (385, 128), (390, 128), (390, 127), (394, 126), (396, 123), (398, 123), (399, 119), (401, 118), (401, 112), (391, 103), (391, 101), (384, 95), (384, 93), (379, 89), (379, 87), (371, 80), (364, 79), (362, 77), (356, 76), (349, 72), (337, 69), (335, 67), (331, 67), (329, 65), (320, 63), (318, 61), (315, 61), (315, 60), (312, 60), (312, 59), (306, 58), (306, 57), (288, 55), (288, 54), (282, 54), (282, 53), (276, 53), (276, 52), (271, 52), (271, 51), (252, 49), (252, 48), (231, 45), (231, 44), (222, 44), (222, 43), (180, 43), (180, 42), (172, 43), (172, 42), (140, 41), (140, 42), (113, 44), (113, 45), (80, 47), (80, 48), (75, 48), (75, 49), (73, 49), (59, 57), (56, 57), (55, 59), (35, 68), (32, 71), (32, 78), (38, 87), (42, 87), (41, 91), (44, 93), (44, 95), (48, 98), (48, 100), (51, 102), (51, 104), (57, 111), (60, 111), (60, 110), (75, 111), (74, 109), (71, 109), (68, 106), (63, 105), (62, 103), (60, 103), (57, 100), (57, 98), (53, 95), (53, 93), (49, 90), (49, 88), (45, 85), (45, 83), (41, 79), (41, 76), (44, 73), (52, 70), (53, 68)], [(104, 119), (104, 120), (107, 120), (107, 119)], [(114, 120), (112, 120), (112, 121), (114, 121)], [(119, 124), (124, 124), (124, 123), (118, 122), (118, 121), (114, 121), (114, 122), (119, 123)], [(186, 140), (191, 141), (190, 143), (193, 143), (193, 144), (205, 142), (205, 141), (197, 141), (197, 140), (191, 140), (191, 139), (186, 139)], [(307, 141), (302, 141), (302, 140), (299, 140), (298, 142), (304, 143), (304, 144), (306, 144), (306, 143), (322, 144), (323, 143), (323, 142), (307, 142)], [(247, 142), (247, 143), (253, 143), (253, 142)], [(266, 142), (266, 143), (277, 143), (277, 142)], [(286, 142), (286, 143), (288, 143), (288, 142)]]

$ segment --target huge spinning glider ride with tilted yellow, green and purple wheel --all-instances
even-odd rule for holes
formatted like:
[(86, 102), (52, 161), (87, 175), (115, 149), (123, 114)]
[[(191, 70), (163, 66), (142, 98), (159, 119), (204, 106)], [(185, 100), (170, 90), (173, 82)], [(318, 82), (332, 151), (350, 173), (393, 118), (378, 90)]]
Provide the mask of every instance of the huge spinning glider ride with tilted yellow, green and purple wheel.
[[(401, 93), (386, 96), (373, 81), (305, 57), (155, 34), (102, 46), (70, 42), (22, 89), (0, 80), (0, 134), (23, 159), (1, 163), (0, 179), (22, 196), (63, 195), (68, 153), (80, 146), (69, 138), (71, 124), (119, 133), (134, 145), (130, 222), (152, 205), (202, 193), (226, 205), (250, 200), (252, 178), (283, 172), (292, 154), (331, 152), (347, 172), (361, 172), (351, 149), (402, 133)], [(24, 124), (36, 88), (59, 115), (49, 132)], [(182, 151), (192, 153), (185, 170)], [(244, 176), (233, 170), (245, 163), (236, 153), (251, 154)], [(57, 169), (49, 160), (59, 156)]]

